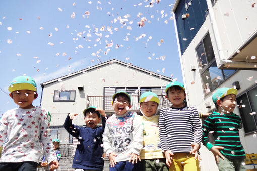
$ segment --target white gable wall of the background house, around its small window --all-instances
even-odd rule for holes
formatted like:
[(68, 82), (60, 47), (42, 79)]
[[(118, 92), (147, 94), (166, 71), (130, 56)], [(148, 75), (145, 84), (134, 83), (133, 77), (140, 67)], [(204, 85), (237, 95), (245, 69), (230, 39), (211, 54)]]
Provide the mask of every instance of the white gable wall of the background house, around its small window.
[[(104, 80), (103, 80), (104, 79)], [(42, 106), (52, 114), (51, 125), (63, 125), (68, 113), (79, 113), (74, 124), (84, 123), (83, 110), (86, 108), (87, 95), (103, 96), (103, 87), (154, 87), (166, 86), (170, 81), (148, 73), (135, 70), (131, 67), (114, 62), (92, 69), (86, 73), (77, 74), (45, 85), (42, 95)], [(78, 85), (84, 85), (84, 92), (78, 91)], [(53, 102), (54, 90), (76, 90), (75, 102)]]

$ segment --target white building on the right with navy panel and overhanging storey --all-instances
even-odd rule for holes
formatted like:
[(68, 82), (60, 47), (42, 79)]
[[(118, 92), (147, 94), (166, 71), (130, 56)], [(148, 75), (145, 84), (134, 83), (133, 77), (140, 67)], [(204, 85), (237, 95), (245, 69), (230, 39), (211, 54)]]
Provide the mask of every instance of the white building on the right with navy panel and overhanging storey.
[[(256, 1), (176, 0), (172, 12), (187, 104), (212, 112), (217, 88), (237, 88), (241, 143), (246, 153), (257, 153)], [(205, 146), (200, 153), (201, 170), (218, 170)]]

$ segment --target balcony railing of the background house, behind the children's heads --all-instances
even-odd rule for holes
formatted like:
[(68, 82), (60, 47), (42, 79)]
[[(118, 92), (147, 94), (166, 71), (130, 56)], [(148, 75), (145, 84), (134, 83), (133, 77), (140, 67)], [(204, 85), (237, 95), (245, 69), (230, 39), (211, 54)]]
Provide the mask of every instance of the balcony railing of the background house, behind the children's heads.
[[(159, 108), (169, 107), (171, 103), (165, 98), (165, 95), (157, 95), (160, 104)], [(140, 96), (138, 95), (131, 95), (131, 109), (134, 111), (139, 111), (139, 99)], [(87, 107), (89, 106), (96, 106), (99, 108), (102, 108), (106, 110), (107, 112), (113, 112), (113, 108), (111, 106), (112, 96), (106, 95), (106, 96), (87, 96)]]

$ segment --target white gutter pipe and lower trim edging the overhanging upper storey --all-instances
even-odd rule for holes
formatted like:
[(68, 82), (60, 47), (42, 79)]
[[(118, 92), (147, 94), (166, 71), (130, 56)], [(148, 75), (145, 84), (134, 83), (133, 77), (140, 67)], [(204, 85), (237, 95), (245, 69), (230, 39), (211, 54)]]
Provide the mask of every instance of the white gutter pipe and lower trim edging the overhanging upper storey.
[(239, 61), (232, 61), (232, 60), (225, 59), (221, 40), (220, 40), (219, 31), (218, 31), (218, 27), (217, 27), (215, 15), (214, 15), (212, 2), (211, 2), (211, 0), (206, 0), (206, 2), (207, 2), (208, 10), (209, 10), (209, 16), (210, 16), (213, 33), (214, 33), (214, 38), (215, 38), (216, 45), (218, 48), (220, 63), (223, 65), (228, 65), (229, 68), (231, 67), (231, 68), (253, 68), (253, 69), (256, 69), (257, 63), (254, 63), (254, 62), (239, 62)]

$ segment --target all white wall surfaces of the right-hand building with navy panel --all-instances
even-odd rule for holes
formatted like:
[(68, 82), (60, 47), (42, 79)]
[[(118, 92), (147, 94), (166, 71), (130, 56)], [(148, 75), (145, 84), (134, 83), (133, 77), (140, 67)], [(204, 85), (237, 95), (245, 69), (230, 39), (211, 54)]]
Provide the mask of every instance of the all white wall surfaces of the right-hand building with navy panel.
[[(251, 3), (248, 2), (250, 1), (219, 0), (214, 6), (215, 17), (217, 19), (222, 46), (226, 57), (230, 57), (235, 51), (237, 51), (237, 48), (241, 46), (257, 30), (257, 8), (252, 8)], [(228, 12), (228, 15), (224, 15), (226, 12)], [(248, 17), (247, 20), (246, 17)], [(204, 90), (197, 61), (198, 57), (195, 51), (196, 47), (207, 32), (210, 33), (214, 54), (217, 59), (219, 53), (215, 43), (211, 22), (208, 16), (197, 35), (182, 55), (182, 64), (184, 68), (184, 77), (189, 104), (190, 106), (196, 107), (197, 110), (201, 112), (208, 112), (215, 108), (211, 98), (213, 92), (209, 93), (207, 96), (204, 96)], [(192, 65), (196, 66), (196, 71), (191, 71)], [(219, 61), (217, 61), (217, 65), (219, 65)], [(248, 81), (246, 78), (250, 76), (254, 76), (255, 78), (256, 75), (257, 71), (238, 71), (228, 80), (223, 82), (219, 88), (232, 87), (232, 83), (234, 81), (239, 81), (241, 89), (238, 91), (238, 94), (240, 94), (255, 84), (255, 80)], [(211, 103), (211, 108), (208, 109), (205, 107), (206, 102)], [(238, 108), (236, 108), (234, 112), (239, 114)], [(254, 138), (252, 134), (244, 135), (243, 129), (239, 131), (239, 134), (245, 152), (257, 153), (256, 138)], [(201, 146), (200, 153), (202, 157), (201, 170), (218, 170), (212, 153), (208, 151), (205, 146)]]

